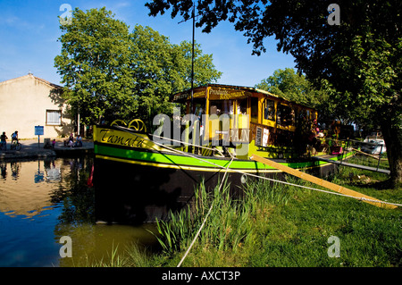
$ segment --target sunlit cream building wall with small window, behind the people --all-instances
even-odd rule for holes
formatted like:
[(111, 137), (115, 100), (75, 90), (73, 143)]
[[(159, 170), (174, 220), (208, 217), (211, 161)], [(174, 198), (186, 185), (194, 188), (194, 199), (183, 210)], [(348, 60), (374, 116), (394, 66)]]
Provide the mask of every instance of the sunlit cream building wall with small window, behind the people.
[[(0, 132), (9, 139), (15, 130), (19, 138), (38, 138), (35, 126), (44, 126), (41, 138), (60, 138), (71, 133), (71, 119), (58, 92), (61, 88), (32, 74), (0, 82)], [(60, 110), (60, 125), (46, 124), (46, 110)]]

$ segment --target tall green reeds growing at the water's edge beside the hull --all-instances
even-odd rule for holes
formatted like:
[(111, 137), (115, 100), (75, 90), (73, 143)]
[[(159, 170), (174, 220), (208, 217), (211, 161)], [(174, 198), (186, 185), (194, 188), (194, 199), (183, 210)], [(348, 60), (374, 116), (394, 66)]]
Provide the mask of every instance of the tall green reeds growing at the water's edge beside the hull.
[[(198, 247), (236, 251), (252, 239), (255, 221), (269, 205), (287, 204), (288, 188), (268, 180), (251, 180), (243, 189), (244, 195), (230, 196), (230, 184), (222, 181), (211, 191), (202, 181), (195, 189), (193, 203), (178, 213), (171, 213), (167, 222), (156, 221), (158, 239), (163, 251), (172, 254), (185, 250), (211, 209), (205, 226), (197, 239)], [(266, 212), (265, 212), (266, 213)]]

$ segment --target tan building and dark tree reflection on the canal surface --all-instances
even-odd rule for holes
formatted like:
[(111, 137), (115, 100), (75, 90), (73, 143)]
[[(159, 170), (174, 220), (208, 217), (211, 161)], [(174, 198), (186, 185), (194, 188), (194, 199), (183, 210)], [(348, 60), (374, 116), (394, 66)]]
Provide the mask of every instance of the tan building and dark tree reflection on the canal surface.
[[(81, 180), (88, 178), (90, 166), (91, 160), (85, 158), (2, 163), (0, 212), (32, 217), (60, 206), (65, 199), (69, 203), (63, 205), (63, 211), (80, 213), (85, 208), (85, 212), (92, 213), (93, 189), (80, 186)], [(70, 218), (64, 221), (64, 216), (60, 222), (72, 221)], [(77, 218), (80, 222), (92, 222), (87, 214), (86, 218)]]

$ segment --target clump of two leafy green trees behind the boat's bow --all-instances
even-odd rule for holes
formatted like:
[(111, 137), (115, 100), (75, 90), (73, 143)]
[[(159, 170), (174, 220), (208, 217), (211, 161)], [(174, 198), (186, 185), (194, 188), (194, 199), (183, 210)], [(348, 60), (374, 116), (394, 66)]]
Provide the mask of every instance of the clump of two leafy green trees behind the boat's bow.
[[(105, 8), (76, 8), (70, 25), (61, 25), (61, 54), (54, 65), (62, 75), (63, 96), (81, 122), (144, 122), (155, 113), (170, 113), (169, 96), (189, 88), (191, 45), (172, 45), (149, 27), (129, 26)], [(218, 80), (212, 54), (195, 49), (195, 83)]]

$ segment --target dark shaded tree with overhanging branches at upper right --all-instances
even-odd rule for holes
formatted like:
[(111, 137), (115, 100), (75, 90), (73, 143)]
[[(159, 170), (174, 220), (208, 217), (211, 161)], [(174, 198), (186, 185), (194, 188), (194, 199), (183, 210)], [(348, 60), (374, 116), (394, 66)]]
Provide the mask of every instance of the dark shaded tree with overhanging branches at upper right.
[[(155, 0), (150, 15), (172, 8), (172, 17), (188, 19), (193, 1)], [(197, 27), (209, 32), (229, 20), (243, 31), (253, 54), (265, 52), (264, 39), (274, 36), (278, 50), (295, 57), (308, 80), (326, 88), (335, 111), (381, 126), (391, 181), (402, 183), (401, 41), (398, 0), (339, 0), (339, 25), (324, 0), (247, 0), (197, 2)], [(339, 11), (338, 11), (339, 12)], [(335, 15), (338, 13), (336, 12)]]

